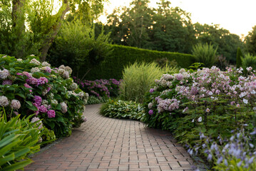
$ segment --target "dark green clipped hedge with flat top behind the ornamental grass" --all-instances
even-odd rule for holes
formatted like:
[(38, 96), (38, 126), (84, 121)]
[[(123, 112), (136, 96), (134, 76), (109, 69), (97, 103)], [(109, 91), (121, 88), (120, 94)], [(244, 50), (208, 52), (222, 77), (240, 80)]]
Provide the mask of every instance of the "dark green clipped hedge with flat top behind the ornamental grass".
[(113, 46), (113, 53), (106, 58), (100, 66), (93, 68), (86, 76), (87, 80), (100, 78), (121, 79), (124, 66), (133, 64), (135, 61), (152, 62), (160, 58), (168, 58), (169, 61), (175, 60), (181, 68), (188, 68), (194, 63), (194, 56), (184, 53), (172, 53), (162, 51), (150, 51), (142, 48), (129, 46)]

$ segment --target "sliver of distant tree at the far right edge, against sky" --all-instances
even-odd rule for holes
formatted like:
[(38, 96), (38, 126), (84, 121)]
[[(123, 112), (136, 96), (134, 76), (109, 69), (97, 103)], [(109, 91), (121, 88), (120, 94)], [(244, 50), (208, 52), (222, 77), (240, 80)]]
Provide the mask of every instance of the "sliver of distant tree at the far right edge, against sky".
[(256, 26), (245, 36), (245, 51), (256, 55)]

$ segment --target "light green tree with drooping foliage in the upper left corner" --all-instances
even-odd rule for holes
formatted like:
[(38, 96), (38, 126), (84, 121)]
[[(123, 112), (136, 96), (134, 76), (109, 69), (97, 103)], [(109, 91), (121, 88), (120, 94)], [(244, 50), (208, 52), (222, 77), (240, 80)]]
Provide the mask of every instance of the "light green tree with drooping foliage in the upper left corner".
[[(103, 9), (104, 0), (62, 0), (61, 7), (53, 14), (51, 0), (1, 0), (1, 53), (25, 56), (26, 48), (41, 55), (46, 60), (48, 49), (61, 28), (68, 11), (78, 11), (85, 16), (98, 16)], [(91, 7), (91, 8), (90, 8)], [(33, 46), (30, 46), (33, 45)], [(35, 45), (35, 46), (34, 46)], [(10, 50), (4, 50), (4, 48)]]

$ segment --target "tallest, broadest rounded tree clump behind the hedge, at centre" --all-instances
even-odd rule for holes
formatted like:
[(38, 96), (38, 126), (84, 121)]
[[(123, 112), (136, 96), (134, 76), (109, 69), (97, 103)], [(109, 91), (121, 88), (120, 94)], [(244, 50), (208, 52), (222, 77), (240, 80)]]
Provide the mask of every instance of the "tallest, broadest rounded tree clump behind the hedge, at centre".
[(170, 1), (158, 3), (158, 9), (149, 7), (148, 0), (134, 0), (130, 6), (116, 9), (108, 16), (106, 31), (119, 45), (147, 48), (157, 51), (190, 53), (195, 42), (190, 14)]

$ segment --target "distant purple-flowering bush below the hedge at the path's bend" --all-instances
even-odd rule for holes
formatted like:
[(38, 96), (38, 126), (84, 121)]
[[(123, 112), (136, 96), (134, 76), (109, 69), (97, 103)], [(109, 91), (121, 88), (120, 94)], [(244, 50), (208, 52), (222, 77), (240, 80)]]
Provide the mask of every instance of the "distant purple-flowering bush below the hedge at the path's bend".
[(101, 98), (110, 98), (118, 96), (119, 86), (121, 81), (116, 79), (109, 80), (96, 80), (96, 81), (81, 81), (79, 78), (73, 77), (74, 81), (85, 92), (88, 92), (89, 95), (96, 96), (101, 100)]

